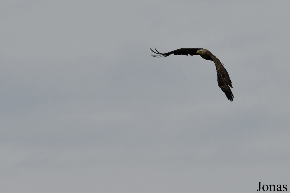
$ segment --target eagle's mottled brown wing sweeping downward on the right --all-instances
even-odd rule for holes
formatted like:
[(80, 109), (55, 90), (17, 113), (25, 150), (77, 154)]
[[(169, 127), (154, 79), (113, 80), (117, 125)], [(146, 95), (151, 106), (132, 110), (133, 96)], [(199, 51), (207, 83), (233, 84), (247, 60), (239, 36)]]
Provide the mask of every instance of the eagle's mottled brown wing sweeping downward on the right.
[(226, 94), (226, 98), (228, 98), (230, 101), (233, 101), (234, 95), (230, 89), (232, 87), (232, 81), (230, 79), (229, 73), (224, 68), (223, 64), (220, 62), (220, 60), (215, 57), (213, 54), (211, 54), (211, 58), (213, 59), (213, 62), (215, 63), (215, 67), (217, 70), (218, 75), (218, 86), (222, 91)]

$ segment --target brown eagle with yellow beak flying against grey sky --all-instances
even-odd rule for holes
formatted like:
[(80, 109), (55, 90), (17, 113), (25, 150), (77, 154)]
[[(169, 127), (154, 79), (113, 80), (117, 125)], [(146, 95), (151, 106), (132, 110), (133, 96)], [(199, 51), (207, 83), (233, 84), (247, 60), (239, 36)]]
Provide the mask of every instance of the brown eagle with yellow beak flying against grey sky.
[[(151, 49), (151, 48), (150, 48)], [(224, 68), (224, 64), (220, 62), (220, 60), (215, 57), (215, 55), (213, 55), (209, 50), (204, 49), (204, 48), (180, 48), (180, 49), (176, 49), (173, 50), (171, 52), (167, 52), (167, 53), (160, 53), (157, 51), (157, 49), (155, 48), (155, 51), (153, 51), (151, 49), (152, 52), (154, 52), (155, 54), (150, 54), (150, 56), (156, 57), (166, 57), (169, 56), (170, 54), (174, 54), (174, 55), (200, 55), (203, 59), (206, 60), (211, 60), (215, 63), (215, 68), (217, 70), (217, 75), (218, 75), (218, 86), (220, 87), (220, 89), (222, 89), (222, 91), (226, 94), (226, 97), (230, 100), (233, 101), (234, 95), (230, 89), (233, 88), (232, 87), (232, 81), (229, 77), (228, 72), (226, 71), (226, 69)], [(158, 57), (158, 58), (159, 58)]]

